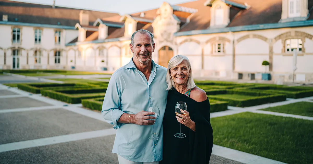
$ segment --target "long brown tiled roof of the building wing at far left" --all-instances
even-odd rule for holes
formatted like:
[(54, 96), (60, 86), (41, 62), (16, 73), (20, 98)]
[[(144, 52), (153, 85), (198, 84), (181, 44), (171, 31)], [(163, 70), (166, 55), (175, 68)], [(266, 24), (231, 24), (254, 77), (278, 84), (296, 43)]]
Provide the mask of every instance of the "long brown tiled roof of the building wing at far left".
[[(51, 1), (52, 2), (52, 1)], [(8, 15), (10, 22), (40, 23), (50, 25), (75, 26), (79, 22), (81, 9), (40, 5), (25, 2), (0, 0), (0, 15)], [(97, 18), (119, 16), (118, 13), (84, 10), (89, 14), (90, 25)], [(18, 20), (15, 21), (15, 18)]]

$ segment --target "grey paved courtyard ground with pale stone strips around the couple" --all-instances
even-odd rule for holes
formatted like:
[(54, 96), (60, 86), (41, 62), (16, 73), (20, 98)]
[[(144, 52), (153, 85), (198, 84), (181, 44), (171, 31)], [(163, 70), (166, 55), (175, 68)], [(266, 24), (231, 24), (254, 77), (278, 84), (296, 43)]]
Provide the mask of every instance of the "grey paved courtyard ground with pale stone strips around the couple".
[[(247, 111), (230, 108), (211, 116)], [(0, 132), (0, 159), (4, 163), (118, 163), (111, 153), (116, 131), (99, 112), (1, 84)], [(283, 162), (213, 145), (213, 163)]]

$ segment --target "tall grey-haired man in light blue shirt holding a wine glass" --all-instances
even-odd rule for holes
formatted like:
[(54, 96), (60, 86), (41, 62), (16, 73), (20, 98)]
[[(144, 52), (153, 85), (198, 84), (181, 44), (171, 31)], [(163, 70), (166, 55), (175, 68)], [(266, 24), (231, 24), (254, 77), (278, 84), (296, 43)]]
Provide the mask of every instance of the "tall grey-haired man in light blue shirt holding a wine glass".
[[(112, 153), (117, 154), (120, 164), (158, 164), (163, 151), (167, 69), (151, 58), (155, 48), (151, 32), (134, 32), (130, 48), (133, 57), (113, 73), (101, 113), (117, 129)], [(148, 116), (153, 112), (145, 112), (149, 107), (159, 107), (157, 120), (148, 120), (156, 118)], [(148, 139), (153, 136), (152, 124), (159, 140)]]

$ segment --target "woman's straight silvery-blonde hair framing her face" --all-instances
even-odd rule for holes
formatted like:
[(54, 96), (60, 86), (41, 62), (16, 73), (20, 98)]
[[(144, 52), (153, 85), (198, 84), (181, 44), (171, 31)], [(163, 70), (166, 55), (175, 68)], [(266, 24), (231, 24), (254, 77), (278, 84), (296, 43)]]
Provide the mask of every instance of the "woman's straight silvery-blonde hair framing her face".
[(189, 70), (188, 80), (187, 80), (187, 90), (196, 86), (192, 78), (192, 70), (191, 70), (191, 64), (189, 62), (189, 59), (184, 55), (176, 55), (172, 57), (172, 59), (168, 62), (168, 65), (167, 65), (167, 73), (166, 73), (167, 89), (166, 90), (172, 90), (172, 88), (176, 89), (175, 83), (173, 79), (171, 78), (171, 69), (175, 66), (178, 66), (184, 60), (187, 62), (187, 65), (188, 65), (187, 69)]

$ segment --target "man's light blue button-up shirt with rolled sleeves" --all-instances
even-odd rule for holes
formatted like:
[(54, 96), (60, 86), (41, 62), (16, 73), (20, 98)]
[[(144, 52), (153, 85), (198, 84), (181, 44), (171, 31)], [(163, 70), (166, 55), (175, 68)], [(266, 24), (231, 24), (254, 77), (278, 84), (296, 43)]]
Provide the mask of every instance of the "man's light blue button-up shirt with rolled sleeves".
[[(161, 161), (162, 121), (167, 103), (167, 69), (152, 60), (151, 75), (147, 81), (132, 59), (113, 73), (103, 101), (101, 114), (117, 129), (112, 153), (134, 162)], [(155, 136), (160, 137), (159, 140), (148, 139), (153, 136), (152, 125), (117, 122), (123, 113), (136, 114), (156, 106), (160, 109), (160, 116), (154, 124), (154, 130)]]

